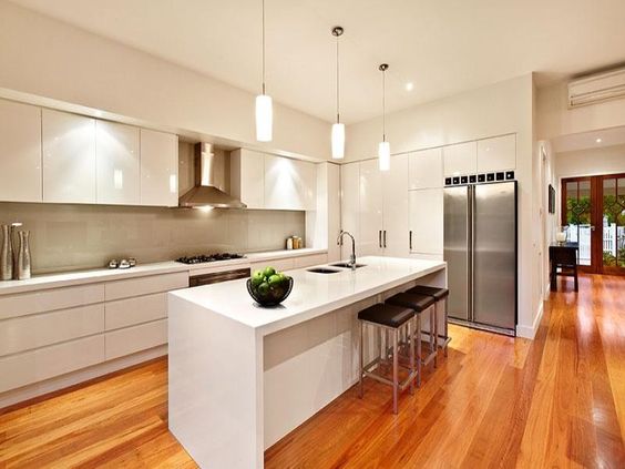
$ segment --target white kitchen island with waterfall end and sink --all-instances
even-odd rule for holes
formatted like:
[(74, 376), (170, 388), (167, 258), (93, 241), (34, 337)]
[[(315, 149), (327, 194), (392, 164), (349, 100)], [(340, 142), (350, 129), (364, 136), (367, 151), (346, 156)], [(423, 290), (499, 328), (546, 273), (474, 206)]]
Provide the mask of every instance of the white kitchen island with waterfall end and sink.
[(262, 468), (266, 448), (358, 380), (360, 309), (447, 286), (444, 262), (358, 262), (288, 272), (293, 292), (274, 308), (256, 305), (245, 279), (170, 293), (170, 429), (201, 467)]

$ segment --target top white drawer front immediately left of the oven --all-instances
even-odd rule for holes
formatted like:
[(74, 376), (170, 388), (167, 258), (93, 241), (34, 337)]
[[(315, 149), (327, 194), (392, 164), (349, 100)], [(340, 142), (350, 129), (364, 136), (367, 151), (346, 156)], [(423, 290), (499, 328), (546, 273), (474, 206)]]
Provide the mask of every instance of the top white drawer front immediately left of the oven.
[(105, 286), (104, 296), (110, 302), (186, 287), (188, 287), (188, 273), (177, 272), (175, 274), (150, 275), (147, 277), (129, 278), (127, 281), (109, 282)]

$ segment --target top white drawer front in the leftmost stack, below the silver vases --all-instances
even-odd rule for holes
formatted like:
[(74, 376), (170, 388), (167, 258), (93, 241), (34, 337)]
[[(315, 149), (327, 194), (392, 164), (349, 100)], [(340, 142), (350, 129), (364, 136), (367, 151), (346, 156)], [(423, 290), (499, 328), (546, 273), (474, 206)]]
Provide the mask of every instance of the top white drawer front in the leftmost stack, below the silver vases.
[(73, 308), (104, 300), (104, 284), (43, 289), (0, 296), (0, 319)]

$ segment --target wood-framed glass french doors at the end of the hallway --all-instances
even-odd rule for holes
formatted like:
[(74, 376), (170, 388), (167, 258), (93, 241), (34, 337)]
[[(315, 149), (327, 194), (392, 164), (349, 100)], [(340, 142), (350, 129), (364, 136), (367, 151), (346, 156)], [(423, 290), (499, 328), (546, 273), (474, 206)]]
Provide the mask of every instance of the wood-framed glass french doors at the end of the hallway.
[(581, 271), (625, 275), (625, 174), (562, 180), (561, 213)]

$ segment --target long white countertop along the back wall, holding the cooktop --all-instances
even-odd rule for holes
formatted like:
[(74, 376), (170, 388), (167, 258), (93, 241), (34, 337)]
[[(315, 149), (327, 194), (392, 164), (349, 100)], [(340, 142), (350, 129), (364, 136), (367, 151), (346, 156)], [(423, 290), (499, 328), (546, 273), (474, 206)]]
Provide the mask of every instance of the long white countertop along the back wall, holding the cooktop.
[(267, 253), (249, 253), (244, 258), (221, 261), (217, 263), (204, 263), (186, 265), (175, 261), (158, 262), (151, 264), (140, 264), (132, 268), (95, 268), (78, 272), (64, 272), (58, 274), (34, 275), (25, 281), (4, 281), (0, 282), (0, 295), (33, 292), (45, 288), (59, 288), (72, 285), (83, 285), (98, 282), (111, 282), (123, 278), (142, 277), (146, 275), (168, 274), (174, 272), (192, 272), (196, 269), (211, 271), (211, 268), (222, 268), (224, 266), (249, 266), (252, 262), (269, 261), (280, 257), (299, 257), (312, 254), (327, 253), (327, 249), (293, 249), (293, 251), (271, 251)]

